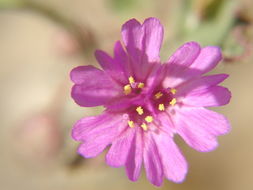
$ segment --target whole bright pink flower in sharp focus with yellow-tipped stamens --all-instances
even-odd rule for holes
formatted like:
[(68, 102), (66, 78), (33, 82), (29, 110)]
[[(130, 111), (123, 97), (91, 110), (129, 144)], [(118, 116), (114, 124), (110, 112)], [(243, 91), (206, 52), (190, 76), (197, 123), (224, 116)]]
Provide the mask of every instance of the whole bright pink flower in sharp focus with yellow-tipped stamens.
[(101, 115), (74, 125), (72, 137), (82, 142), (78, 152), (91, 158), (111, 145), (107, 164), (125, 166), (130, 180), (139, 178), (143, 164), (156, 186), (164, 177), (182, 182), (187, 163), (174, 135), (208, 152), (217, 147), (217, 136), (230, 129), (223, 115), (204, 108), (225, 105), (231, 97), (218, 86), (228, 75), (202, 76), (218, 64), (221, 51), (188, 42), (162, 64), (163, 26), (155, 18), (143, 24), (129, 20), (122, 27), (122, 40), (123, 46), (116, 42), (113, 57), (96, 51), (102, 70), (80, 66), (71, 71), (75, 102), (105, 107)]

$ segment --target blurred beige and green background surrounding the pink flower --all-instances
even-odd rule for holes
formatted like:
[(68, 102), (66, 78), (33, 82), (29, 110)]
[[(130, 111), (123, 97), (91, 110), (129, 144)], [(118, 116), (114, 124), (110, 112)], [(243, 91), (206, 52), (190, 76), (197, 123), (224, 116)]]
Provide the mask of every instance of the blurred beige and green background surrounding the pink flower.
[(104, 154), (83, 159), (71, 139), (73, 123), (102, 108), (81, 108), (70, 98), (70, 70), (97, 65), (93, 52), (112, 52), (130, 18), (157, 17), (165, 27), (166, 60), (186, 41), (217, 45), (224, 59), (213, 73), (231, 103), (215, 110), (232, 123), (220, 146), (198, 153), (177, 139), (190, 168), (184, 183), (160, 189), (253, 189), (252, 0), (0, 0), (0, 189), (156, 189), (145, 177), (129, 181)]

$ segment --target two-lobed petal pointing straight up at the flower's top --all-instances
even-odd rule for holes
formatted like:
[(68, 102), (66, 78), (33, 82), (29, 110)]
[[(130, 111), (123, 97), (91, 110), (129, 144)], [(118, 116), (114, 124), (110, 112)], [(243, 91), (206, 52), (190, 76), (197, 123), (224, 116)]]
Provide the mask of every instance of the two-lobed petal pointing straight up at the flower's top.
[(146, 19), (142, 25), (132, 19), (122, 26), (122, 39), (130, 57), (132, 74), (144, 81), (152, 63), (160, 60), (163, 26), (155, 18)]

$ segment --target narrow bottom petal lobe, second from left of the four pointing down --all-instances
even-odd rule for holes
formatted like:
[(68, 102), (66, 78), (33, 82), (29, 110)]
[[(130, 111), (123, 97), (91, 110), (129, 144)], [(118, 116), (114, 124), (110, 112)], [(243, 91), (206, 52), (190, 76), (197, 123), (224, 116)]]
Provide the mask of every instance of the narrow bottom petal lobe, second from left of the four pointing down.
[(132, 181), (137, 181), (141, 173), (142, 157), (143, 157), (143, 139), (141, 136), (142, 130), (136, 128), (134, 140), (131, 143), (131, 148), (126, 161), (126, 174)]

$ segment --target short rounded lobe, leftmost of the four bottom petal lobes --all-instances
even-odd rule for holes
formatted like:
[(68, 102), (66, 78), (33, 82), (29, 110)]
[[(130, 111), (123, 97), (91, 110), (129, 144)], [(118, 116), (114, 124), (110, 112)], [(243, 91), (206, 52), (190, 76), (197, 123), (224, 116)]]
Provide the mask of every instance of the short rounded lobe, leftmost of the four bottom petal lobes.
[(125, 165), (131, 145), (134, 141), (135, 131), (128, 129), (118, 139), (116, 139), (106, 155), (106, 163), (112, 167)]

